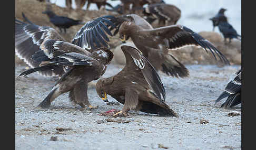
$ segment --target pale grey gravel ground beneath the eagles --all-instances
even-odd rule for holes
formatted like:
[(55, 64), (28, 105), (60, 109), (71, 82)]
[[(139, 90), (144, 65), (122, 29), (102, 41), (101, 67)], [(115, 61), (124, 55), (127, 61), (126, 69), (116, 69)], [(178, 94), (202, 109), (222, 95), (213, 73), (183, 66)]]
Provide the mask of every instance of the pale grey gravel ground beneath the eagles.
[[(190, 77), (177, 79), (160, 73), (166, 103), (179, 117), (159, 117), (130, 111), (129, 117), (102, 116), (122, 104), (110, 96), (107, 105), (92, 86), (89, 101), (99, 106), (81, 110), (67, 93), (50, 109), (34, 108), (51, 91), (56, 78), (37, 73), (18, 77), (25, 66), (15, 68), (15, 149), (241, 149), (241, 105), (219, 108), (214, 100), (241, 66), (186, 65)], [(103, 77), (119, 72), (110, 65)], [(238, 115), (230, 116), (230, 112)]]

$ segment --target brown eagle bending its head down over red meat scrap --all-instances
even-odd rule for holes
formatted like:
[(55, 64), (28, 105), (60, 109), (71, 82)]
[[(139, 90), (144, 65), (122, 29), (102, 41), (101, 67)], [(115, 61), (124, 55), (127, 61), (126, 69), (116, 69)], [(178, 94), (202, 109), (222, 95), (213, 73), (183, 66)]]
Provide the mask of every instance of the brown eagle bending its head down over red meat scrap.
[(137, 110), (161, 116), (177, 116), (165, 103), (163, 83), (150, 61), (142, 52), (131, 46), (121, 46), (126, 65), (115, 76), (102, 78), (96, 83), (99, 97), (106, 101), (106, 94), (124, 104), (122, 111), (114, 114), (126, 114)]

